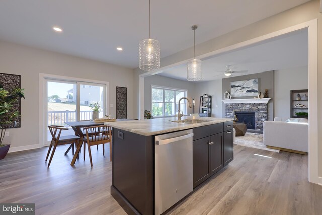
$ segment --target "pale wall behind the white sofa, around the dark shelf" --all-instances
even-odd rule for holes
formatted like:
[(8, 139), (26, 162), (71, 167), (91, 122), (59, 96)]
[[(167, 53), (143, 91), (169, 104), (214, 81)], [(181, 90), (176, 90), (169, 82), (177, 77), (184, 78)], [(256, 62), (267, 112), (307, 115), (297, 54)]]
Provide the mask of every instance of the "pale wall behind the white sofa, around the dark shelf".
[(308, 89), (308, 67), (274, 71), (274, 116), (290, 117), (290, 90)]

